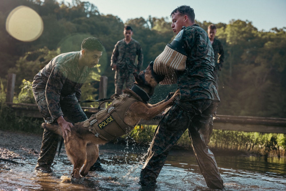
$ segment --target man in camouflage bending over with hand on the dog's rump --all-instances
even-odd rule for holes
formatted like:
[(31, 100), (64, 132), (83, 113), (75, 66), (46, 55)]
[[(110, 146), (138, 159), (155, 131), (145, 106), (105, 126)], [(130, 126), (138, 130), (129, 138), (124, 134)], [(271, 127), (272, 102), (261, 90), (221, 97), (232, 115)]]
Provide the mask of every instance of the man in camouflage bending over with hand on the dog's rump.
[[(88, 74), (98, 64), (104, 46), (94, 37), (82, 41), (81, 50), (53, 58), (33, 81), (33, 94), (46, 123), (58, 123), (64, 136), (74, 123), (88, 119), (78, 100)], [(41, 153), (35, 170), (51, 173), (59, 135), (44, 130)], [(100, 160), (90, 170), (104, 171)]]

